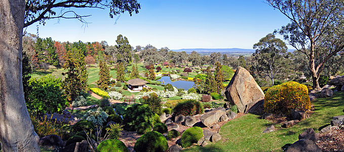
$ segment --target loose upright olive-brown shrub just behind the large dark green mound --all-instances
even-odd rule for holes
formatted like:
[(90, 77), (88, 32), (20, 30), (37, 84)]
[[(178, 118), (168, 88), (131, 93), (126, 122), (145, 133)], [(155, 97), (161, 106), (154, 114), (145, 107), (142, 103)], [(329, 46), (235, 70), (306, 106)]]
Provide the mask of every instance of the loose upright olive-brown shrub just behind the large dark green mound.
[(142, 104), (147, 104), (149, 108), (158, 115), (161, 115), (161, 98), (156, 93), (151, 93), (150, 97), (142, 97)]

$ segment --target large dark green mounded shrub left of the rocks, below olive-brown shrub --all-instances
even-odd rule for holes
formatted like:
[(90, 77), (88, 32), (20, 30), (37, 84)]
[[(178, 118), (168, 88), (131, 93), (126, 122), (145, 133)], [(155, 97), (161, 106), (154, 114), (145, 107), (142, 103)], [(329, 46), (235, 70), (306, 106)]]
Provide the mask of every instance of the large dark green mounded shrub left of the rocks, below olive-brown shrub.
[(153, 113), (147, 104), (135, 104), (128, 107), (124, 113), (123, 124), (124, 129), (128, 131), (137, 131), (139, 124), (148, 123), (153, 126), (155, 120)]

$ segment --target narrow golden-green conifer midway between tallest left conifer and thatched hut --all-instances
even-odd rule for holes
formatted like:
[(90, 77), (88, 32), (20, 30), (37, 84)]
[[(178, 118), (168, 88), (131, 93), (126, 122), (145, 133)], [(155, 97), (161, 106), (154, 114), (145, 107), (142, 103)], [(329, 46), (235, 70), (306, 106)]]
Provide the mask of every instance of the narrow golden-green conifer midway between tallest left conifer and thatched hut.
[(110, 70), (107, 67), (106, 63), (100, 60), (99, 63), (99, 80), (97, 82), (98, 88), (107, 90), (110, 81)]

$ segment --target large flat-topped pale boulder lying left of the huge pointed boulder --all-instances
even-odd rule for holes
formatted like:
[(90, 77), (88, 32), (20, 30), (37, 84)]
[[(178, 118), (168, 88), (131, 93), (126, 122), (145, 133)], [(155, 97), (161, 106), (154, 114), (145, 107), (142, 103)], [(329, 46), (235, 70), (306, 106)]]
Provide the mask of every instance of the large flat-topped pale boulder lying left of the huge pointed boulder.
[(213, 124), (217, 123), (222, 115), (226, 115), (224, 107), (218, 107), (205, 113), (201, 118), (201, 122), (207, 126), (211, 127)]

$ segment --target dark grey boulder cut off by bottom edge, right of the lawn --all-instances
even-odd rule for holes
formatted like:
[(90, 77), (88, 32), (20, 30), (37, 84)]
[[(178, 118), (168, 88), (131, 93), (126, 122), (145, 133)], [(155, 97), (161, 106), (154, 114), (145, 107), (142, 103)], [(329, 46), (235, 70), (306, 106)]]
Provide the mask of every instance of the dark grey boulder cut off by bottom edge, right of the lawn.
[(286, 151), (287, 152), (294, 152), (294, 151), (321, 152), (321, 149), (313, 140), (300, 139), (294, 142), (292, 145), (290, 145)]

